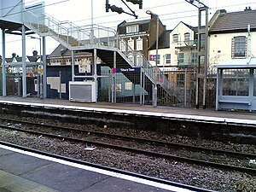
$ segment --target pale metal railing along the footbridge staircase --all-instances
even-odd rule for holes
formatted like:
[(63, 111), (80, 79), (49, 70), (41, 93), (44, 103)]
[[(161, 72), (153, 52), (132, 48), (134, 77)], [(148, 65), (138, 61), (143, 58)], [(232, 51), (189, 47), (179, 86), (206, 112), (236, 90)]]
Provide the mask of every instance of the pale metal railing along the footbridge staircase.
[(28, 10), (24, 12), (23, 18), (26, 26), (31, 27), (40, 35), (57, 38), (56, 40), (65, 43), (68, 49), (75, 49), (79, 46), (117, 49), (130, 62), (131, 67), (143, 67), (145, 75), (154, 84), (160, 84), (166, 91), (170, 88), (171, 84), (164, 73), (158, 67), (152, 66), (139, 51), (131, 49), (125, 39), (110, 27), (76, 26), (73, 22), (59, 21), (50, 15), (34, 15)]

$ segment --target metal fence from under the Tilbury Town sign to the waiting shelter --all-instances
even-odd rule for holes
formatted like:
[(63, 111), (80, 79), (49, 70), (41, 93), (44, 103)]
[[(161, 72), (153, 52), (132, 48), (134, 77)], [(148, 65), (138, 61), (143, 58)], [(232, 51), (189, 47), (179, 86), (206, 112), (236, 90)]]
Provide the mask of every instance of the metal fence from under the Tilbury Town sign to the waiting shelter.
[[(158, 105), (195, 108), (195, 68), (170, 71), (165, 75), (171, 85), (167, 91), (157, 86)], [(113, 73), (109, 67), (102, 67), (102, 76), (98, 101), (152, 104), (154, 84), (148, 82), (143, 73)], [(200, 81), (199, 102), (202, 106), (203, 79)], [(215, 92), (216, 74), (211, 73), (207, 78), (207, 108), (215, 108)]]

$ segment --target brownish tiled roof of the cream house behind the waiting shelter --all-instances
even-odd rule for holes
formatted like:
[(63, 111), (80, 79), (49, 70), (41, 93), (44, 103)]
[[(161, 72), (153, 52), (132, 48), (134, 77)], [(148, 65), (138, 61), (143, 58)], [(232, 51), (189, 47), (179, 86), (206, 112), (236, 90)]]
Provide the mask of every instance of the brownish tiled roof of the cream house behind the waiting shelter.
[(210, 33), (243, 32), (248, 25), (252, 31), (256, 31), (256, 10), (247, 9), (240, 12), (222, 13), (212, 24)]

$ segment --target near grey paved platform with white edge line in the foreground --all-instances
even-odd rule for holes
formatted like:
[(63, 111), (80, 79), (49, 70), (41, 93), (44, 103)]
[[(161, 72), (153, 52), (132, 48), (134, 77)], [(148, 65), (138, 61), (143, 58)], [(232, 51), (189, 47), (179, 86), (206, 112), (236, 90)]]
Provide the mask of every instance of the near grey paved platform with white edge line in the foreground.
[(0, 144), (1, 192), (189, 192)]

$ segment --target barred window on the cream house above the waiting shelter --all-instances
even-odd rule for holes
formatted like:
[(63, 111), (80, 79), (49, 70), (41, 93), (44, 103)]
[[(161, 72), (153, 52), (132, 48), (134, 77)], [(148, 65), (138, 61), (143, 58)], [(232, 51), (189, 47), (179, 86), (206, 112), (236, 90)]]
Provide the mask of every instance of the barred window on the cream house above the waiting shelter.
[(247, 38), (245, 36), (232, 39), (232, 58), (247, 55)]

